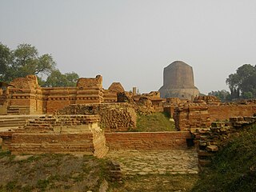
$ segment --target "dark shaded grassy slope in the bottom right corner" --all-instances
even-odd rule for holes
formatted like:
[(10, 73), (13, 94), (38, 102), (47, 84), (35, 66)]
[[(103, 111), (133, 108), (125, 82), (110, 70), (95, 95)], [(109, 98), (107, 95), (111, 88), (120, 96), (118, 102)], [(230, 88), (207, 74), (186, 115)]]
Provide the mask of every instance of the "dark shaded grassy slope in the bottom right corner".
[(192, 191), (256, 191), (256, 126), (226, 142)]

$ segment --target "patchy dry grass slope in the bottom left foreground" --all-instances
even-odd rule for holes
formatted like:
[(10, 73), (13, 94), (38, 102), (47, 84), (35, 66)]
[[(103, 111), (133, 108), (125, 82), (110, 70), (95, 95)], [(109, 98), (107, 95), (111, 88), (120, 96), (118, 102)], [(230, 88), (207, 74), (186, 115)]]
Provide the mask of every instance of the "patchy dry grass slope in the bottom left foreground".
[(109, 177), (107, 160), (89, 155), (37, 154), (15, 161), (13, 156), (0, 149), (0, 192), (98, 191)]

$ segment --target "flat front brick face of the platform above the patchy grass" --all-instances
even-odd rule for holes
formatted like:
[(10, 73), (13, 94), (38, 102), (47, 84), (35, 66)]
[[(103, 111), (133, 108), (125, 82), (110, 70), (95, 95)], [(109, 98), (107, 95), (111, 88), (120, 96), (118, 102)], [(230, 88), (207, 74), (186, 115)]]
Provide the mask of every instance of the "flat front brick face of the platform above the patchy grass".
[(93, 154), (93, 134), (13, 134), (10, 151), (12, 154)]

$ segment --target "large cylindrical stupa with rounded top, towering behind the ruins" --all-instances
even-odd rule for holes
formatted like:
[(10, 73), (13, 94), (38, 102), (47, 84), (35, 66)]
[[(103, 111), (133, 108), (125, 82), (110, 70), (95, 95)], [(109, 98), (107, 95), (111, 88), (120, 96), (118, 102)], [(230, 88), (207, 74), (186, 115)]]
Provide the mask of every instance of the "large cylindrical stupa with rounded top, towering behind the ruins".
[(166, 66), (163, 70), (163, 86), (159, 92), (161, 98), (191, 99), (198, 96), (192, 67), (181, 61)]

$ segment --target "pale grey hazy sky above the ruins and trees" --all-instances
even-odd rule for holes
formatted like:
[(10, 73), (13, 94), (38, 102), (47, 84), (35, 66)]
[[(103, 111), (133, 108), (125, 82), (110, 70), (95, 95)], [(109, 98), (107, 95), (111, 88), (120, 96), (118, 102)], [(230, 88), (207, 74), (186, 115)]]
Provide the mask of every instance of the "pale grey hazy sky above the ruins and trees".
[(0, 42), (52, 54), (62, 73), (103, 76), (140, 92), (162, 86), (182, 60), (207, 94), (228, 90), (238, 66), (256, 64), (255, 0), (0, 0)]

